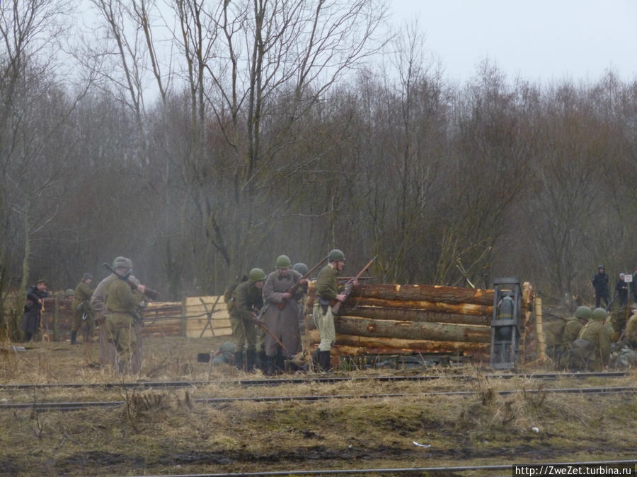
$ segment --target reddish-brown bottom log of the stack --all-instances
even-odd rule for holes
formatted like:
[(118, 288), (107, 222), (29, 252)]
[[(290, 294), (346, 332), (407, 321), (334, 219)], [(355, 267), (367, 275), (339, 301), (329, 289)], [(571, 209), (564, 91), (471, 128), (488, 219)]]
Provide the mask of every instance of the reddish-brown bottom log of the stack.
[[(319, 344), (321, 338), (319, 331), (309, 330), (309, 349)], [(395, 350), (403, 352), (420, 351), (420, 353), (452, 353), (460, 355), (481, 355), (489, 353), (490, 343), (460, 343), (456, 341), (429, 341), (410, 340), (400, 338), (368, 338), (367, 336), (352, 336), (348, 334), (336, 334), (337, 346), (354, 346), (355, 348), (367, 348), (368, 350), (385, 350), (393, 353)]]

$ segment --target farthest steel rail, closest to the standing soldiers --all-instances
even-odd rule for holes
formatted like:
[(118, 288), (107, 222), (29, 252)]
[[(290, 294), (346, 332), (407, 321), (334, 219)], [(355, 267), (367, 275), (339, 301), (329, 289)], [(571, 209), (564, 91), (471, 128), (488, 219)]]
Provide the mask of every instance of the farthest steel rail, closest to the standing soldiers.
[(489, 375), (418, 375), (418, 376), (358, 376), (358, 377), (302, 377), (302, 378), (262, 378), (262, 379), (221, 379), (214, 381), (147, 381), (147, 382), (106, 382), (106, 383), (51, 383), (51, 384), (0, 384), (0, 389), (55, 389), (55, 388), (155, 388), (155, 387), (197, 387), (211, 384), (240, 384), (241, 386), (279, 386), (281, 384), (335, 384), (338, 382), (401, 382), (401, 381), (433, 381), (436, 379), (586, 379), (589, 377), (626, 377), (630, 372), (576, 372), (576, 373), (544, 373), (544, 374), (489, 374)]

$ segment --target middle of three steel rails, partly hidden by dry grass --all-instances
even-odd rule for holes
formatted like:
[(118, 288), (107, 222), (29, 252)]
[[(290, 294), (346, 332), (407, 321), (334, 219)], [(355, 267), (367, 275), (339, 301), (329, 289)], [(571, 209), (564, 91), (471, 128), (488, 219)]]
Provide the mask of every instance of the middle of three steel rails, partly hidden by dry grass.
[[(475, 396), (482, 391), (432, 391), (421, 393), (388, 393), (388, 394), (323, 394), (309, 396), (247, 396), (247, 397), (222, 397), (222, 398), (196, 398), (195, 403), (201, 404), (228, 404), (233, 402), (282, 402), (282, 401), (328, 401), (330, 399), (386, 399), (401, 397), (436, 397), (436, 396)], [(637, 387), (575, 387), (556, 389), (503, 389), (496, 391), (502, 396), (511, 394), (540, 394), (540, 393), (567, 393), (567, 394), (619, 394), (637, 393)], [(33, 403), (4, 403), (3, 409), (34, 409), (36, 411), (77, 411), (85, 408), (114, 408), (123, 406), (125, 401), (76, 401), (76, 402), (33, 402)]]

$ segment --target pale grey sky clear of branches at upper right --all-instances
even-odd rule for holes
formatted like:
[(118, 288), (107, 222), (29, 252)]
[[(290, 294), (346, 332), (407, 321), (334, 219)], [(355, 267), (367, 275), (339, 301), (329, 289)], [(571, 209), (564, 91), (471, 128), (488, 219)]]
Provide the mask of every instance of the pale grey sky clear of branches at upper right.
[(464, 82), (482, 59), (509, 79), (637, 78), (637, 0), (390, 0), (396, 25), (418, 16), (447, 78)]

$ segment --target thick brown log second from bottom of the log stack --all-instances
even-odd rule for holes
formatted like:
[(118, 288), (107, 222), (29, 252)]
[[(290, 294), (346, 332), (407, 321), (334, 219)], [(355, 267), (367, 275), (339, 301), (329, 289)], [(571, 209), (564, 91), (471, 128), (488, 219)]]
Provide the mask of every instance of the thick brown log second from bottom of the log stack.
[(490, 343), (491, 340), (491, 332), (488, 326), (336, 317), (334, 327), (336, 332), (340, 334), (368, 336), (369, 338), (462, 341), (464, 343)]

